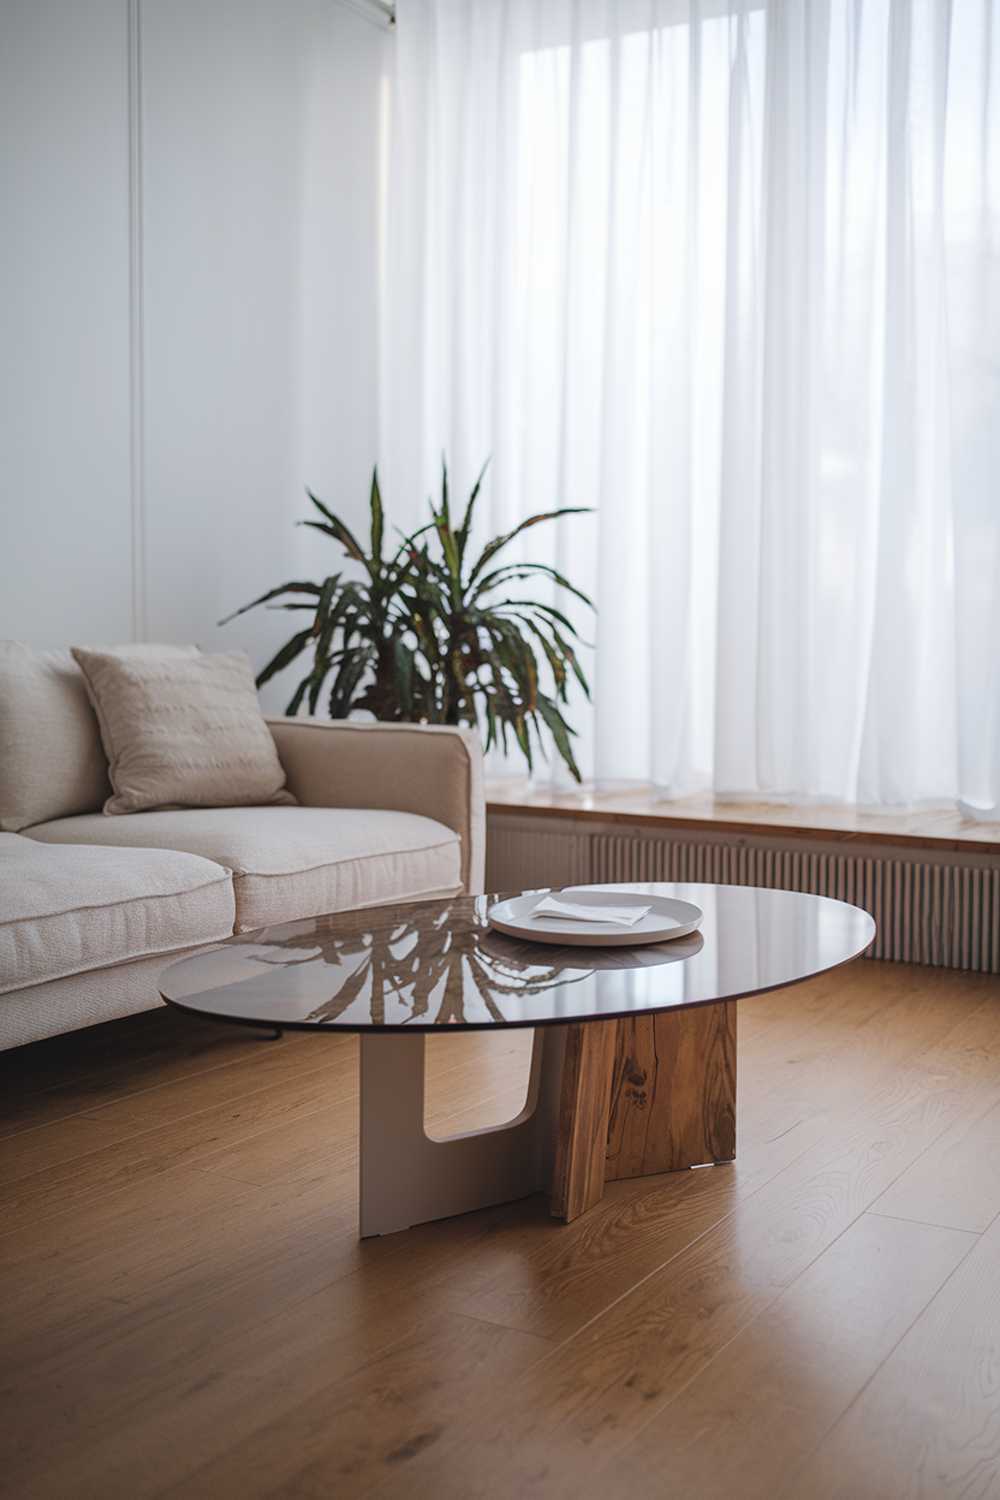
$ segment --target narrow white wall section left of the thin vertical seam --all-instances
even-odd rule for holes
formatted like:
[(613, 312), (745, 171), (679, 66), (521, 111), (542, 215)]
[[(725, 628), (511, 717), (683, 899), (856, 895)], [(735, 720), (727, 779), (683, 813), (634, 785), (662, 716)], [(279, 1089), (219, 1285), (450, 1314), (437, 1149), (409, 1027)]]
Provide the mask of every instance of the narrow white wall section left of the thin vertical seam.
[(0, 636), (127, 639), (121, 0), (0, 4)]

